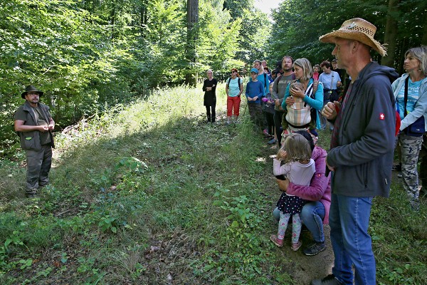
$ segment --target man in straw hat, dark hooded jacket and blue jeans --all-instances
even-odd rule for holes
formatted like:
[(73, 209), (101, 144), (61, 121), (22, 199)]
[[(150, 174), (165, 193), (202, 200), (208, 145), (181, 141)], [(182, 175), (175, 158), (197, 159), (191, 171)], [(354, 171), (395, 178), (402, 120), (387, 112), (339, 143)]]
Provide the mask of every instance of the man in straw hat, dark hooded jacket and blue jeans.
[(335, 260), (332, 274), (312, 284), (376, 282), (368, 224), (372, 198), (390, 192), (396, 120), (391, 82), (399, 75), (370, 61), (371, 48), (386, 55), (374, 40), (375, 31), (373, 24), (355, 18), (320, 37), (335, 44), (332, 55), (352, 82), (341, 103), (327, 103), (322, 110), (334, 121), (327, 167), (333, 171), (330, 227)]

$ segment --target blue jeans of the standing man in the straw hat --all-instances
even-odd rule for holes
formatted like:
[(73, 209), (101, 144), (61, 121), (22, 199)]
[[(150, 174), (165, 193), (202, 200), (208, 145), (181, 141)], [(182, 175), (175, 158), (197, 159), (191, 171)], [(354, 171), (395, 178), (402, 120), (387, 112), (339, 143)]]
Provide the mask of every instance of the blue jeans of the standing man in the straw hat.
[(331, 243), (335, 261), (332, 273), (343, 284), (375, 284), (375, 259), (368, 234), (372, 197), (332, 194), (330, 207)]

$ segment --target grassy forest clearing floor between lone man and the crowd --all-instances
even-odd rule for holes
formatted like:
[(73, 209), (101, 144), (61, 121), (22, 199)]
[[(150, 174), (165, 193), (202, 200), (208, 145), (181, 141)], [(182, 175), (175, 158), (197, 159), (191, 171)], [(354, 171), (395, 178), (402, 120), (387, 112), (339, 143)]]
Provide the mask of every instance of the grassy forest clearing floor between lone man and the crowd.
[[(39, 200), (1, 162), (0, 283), (299, 284), (268, 241), (274, 150), (247, 120), (203, 123), (200, 90), (157, 90), (58, 135)], [(371, 219), (379, 281), (421, 284), (426, 205), (411, 212), (393, 188)]]

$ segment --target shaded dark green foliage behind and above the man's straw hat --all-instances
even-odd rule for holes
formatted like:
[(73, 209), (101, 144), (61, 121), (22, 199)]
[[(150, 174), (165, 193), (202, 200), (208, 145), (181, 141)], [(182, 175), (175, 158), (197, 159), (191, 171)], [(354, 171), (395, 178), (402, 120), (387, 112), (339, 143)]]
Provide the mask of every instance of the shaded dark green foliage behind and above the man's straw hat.
[[(402, 72), (404, 52), (411, 47), (421, 46), (422, 35), (425, 33), (426, 1), (396, 1), (396, 13), (391, 16), (398, 23), (397, 48), (394, 67)], [(355, 17), (366, 19), (376, 26), (375, 38), (384, 43), (386, 19), (389, 13), (389, 1), (320, 1), (290, 0), (283, 1), (273, 19), (273, 32), (268, 51), (270, 56), (279, 59), (285, 54), (293, 58), (308, 58), (312, 63), (320, 63), (332, 59), (333, 47), (320, 43), (318, 38), (341, 24)], [(339, 13), (338, 13), (339, 11)], [(372, 53), (374, 60), (381, 61), (377, 53)]]

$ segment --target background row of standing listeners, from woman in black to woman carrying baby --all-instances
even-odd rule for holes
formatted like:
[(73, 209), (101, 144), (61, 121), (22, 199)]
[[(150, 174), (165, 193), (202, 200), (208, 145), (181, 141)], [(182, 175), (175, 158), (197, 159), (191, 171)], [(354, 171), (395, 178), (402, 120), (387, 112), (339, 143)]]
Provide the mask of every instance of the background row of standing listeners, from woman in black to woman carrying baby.
[[(336, 60), (332, 61), (336, 63)], [(231, 77), (226, 81), (227, 124), (236, 122), (240, 114), (241, 94), (245, 90), (251, 120), (257, 130), (271, 140), (269, 144), (278, 143), (280, 147), (283, 133), (309, 129), (315, 137), (316, 130), (324, 130), (327, 120), (320, 115), (320, 110), (327, 102), (339, 98), (342, 86), (339, 68), (332, 68), (329, 61), (320, 64), (323, 73), (315, 73), (307, 58), (299, 58), (294, 62), (291, 56), (284, 56), (281, 68), (275, 73), (265, 66), (265, 61), (256, 60), (250, 71), (250, 81), (243, 88), (243, 78), (236, 68), (231, 70)], [(336, 64), (335, 64), (336, 66)], [(273, 75), (273, 76), (272, 76)], [(207, 71), (208, 78), (204, 81), (204, 105), (208, 122), (215, 122), (217, 81), (212, 71)], [(273, 79), (274, 78), (274, 79)], [(300, 83), (300, 87), (290, 83)], [(330, 128), (332, 130), (332, 123)]]

